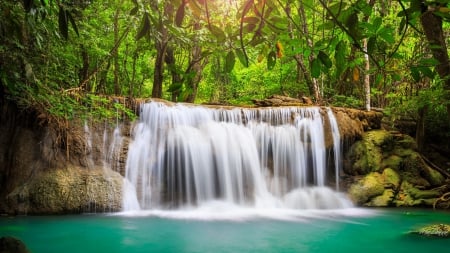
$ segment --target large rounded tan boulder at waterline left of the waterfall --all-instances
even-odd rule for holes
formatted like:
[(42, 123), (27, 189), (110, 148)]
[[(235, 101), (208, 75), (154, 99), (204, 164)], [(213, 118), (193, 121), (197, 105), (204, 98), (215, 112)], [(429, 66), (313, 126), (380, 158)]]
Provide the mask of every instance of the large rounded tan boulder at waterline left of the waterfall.
[(122, 176), (109, 169), (49, 170), (11, 192), (7, 206), (14, 214), (118, 211), (122, 184)]

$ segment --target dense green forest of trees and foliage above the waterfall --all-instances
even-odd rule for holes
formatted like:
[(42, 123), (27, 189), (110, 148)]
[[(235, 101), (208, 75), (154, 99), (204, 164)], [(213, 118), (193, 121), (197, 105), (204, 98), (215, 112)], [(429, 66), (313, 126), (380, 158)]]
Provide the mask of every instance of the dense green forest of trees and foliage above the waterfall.
[[(382, 108), (450, 138), (448, 0), (4, 0), (0, 93), (42, 122), (132, 117), (110, 97)], [(416, 131), (417, 130), (417, 131)], [(448, 143), (447, 143), (448, 144)]]

